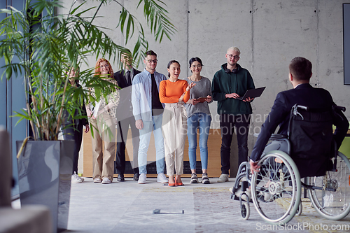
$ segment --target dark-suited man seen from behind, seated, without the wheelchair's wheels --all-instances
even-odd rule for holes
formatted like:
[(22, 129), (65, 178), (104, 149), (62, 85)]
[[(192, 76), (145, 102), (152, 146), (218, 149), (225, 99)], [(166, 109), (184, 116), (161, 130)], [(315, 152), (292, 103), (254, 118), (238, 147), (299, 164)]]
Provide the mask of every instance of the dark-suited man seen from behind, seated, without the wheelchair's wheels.
[[(262, 153), (271, 150), (288, 153), (297, 165), (301, 178), (323, 176), (325, 171), (330, 169), (331, 143), (335, 141), (336, 149), (341, 146), (349, 129), (349, 122), (342, 111), (335, 109), (335, 103), (327, 90), (314, 88), (309, 84), (311, 69), (311, 62), (304, 57), (295, 57), (290, 62), (289, 80), (294, 88), (277, 94), (251, 153), (252, 172), (258, 171), (258, 161)], [(295, 105), (307, 106), (308, 109), (297, 109)], [(293, 117), (293, 113), (290, 112), (293, 106), (296, 120), (293, 124), (297, 127), (290, 125), (290, 118)], [(306, 110), (310, 113), (303, 113)], [(301, 120), (298, 121), (297, 118)], [(303, 121), (303, 118), (309, 119)], [(313, 120), (317, 122), (312, 123)], [(336, 126), (334, 134), (332, 125)], [(279, 126), (278, 134), (289, 137), (292, 143), (291, 151), (288, 151), (288, 143), (285, 140), (272, 141), (266, 146), (277, 126)]]

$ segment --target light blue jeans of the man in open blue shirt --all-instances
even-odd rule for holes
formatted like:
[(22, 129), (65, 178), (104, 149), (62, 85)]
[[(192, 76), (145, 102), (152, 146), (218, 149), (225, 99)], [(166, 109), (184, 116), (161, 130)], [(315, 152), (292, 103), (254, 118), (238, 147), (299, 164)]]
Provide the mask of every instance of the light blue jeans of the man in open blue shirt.
[(138, 162), (140, 174), (147, 174), (147, 151), (150, 144), (152, 131), (155, 139), (155, 164), (157, 166), (157, 174), (164, 173), (165, 150), (162, 135), (162, 114), (160, 114), (153, 115), (152, 121), (144, 121), (144, 128), (139, 129), (140, 144)]

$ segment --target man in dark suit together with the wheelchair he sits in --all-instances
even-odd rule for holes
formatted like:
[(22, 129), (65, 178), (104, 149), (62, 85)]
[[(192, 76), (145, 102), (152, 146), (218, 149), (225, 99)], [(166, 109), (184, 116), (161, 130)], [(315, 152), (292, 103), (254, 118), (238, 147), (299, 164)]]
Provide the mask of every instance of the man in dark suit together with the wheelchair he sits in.
[(350, 212), (350, 162), (337, 152), (349, 122), (327, 90), (311, 87), (311, 69), (304, 57), (292, 59), (294, 88), (277, 94), (250, 162), (241, 165), (250, 167), (251, 174), (239, 167), (231, 197), (239, 197), (245, 220), (252, 200), (268, 223), (288, 223), (302, 213), (302, 186), (321, 216), (339, 220)]

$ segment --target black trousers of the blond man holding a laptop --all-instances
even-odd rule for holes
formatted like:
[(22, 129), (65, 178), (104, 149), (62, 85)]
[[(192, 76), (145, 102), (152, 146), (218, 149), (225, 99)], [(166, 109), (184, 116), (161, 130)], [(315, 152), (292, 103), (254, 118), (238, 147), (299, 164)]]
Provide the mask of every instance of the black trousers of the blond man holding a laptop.
[(229, 174), (232, 136), (237, 130), (238, 165), (248, 161), (248, 132), (251, 115), (220, 115), (221, 174)]

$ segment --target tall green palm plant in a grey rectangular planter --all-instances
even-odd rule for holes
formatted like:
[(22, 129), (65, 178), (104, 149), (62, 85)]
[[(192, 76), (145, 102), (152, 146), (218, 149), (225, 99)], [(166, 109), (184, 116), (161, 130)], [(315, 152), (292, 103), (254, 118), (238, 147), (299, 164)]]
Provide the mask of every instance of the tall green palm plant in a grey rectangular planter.
[[(27, 120), (31, 129), (31, 139), (18, 142), (21, 204), (49, 206), (52, 230), (56, 232), (67, 227), (74, 145), (73, 141), (58, 140), (62, 122), (65, 118), (81, 118), (76, 113), (81, 111), (83, 103), (106, 97), (115, 90), (111, 83), (94, 76), (93, 69), (80, 70), (83, 88), (71, 88), (66, 71), (82, 64), (89, 66), (87, 57), (90, 56), (108, 55), (107, 58), (120, 61), (120, 55), (128, 52), (94, 24), (102, 4), (118, 1), (100, 0), (96, 8), (87, 10), (82, 10), (85, 1), (80, 5), (73, 1), (69, 13), (64, 15), (56, 13), (57, 8), (63, 7), (58, 0), (24, 2), (22, 10), (0, 10), (7, 14), (0, 22), (0, 58), (6, 62), (1, 67), (5, 69), (1, 79), (3, 76), (9, 79), (13, 74), (22, 77), (27, 93), (26, 107), (14, 114), (20, 120)], [(137, 7), (142, 2), (153, 36), (159, 42), (164, 35), (169, 38), (176, 30), (166, 16), (164, 3), (140, 0)], [(133, 35), (138, 36), (130, 54), (135, 63), (148, 46), (141, 23), (138, 23), (138, 33), (134, 34), (136, 21), (123, 8), (118, 27), (126, 41)], [(94, 87), (96, 99), (88, 94), (88, 87)]]

